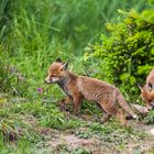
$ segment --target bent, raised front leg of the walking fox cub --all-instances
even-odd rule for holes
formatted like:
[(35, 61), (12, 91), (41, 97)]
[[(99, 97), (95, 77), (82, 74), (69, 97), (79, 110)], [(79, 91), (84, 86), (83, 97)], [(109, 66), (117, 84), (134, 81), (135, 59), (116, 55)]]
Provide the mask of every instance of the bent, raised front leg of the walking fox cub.
[(59, 109), (63, 111), (65, 110), (65, 107), (69, 103), (72, 103), (73, 98), (70, 96), (65, 97), (64, 99), (62, 99), (58, 103)]

